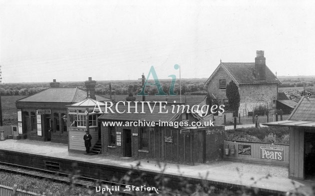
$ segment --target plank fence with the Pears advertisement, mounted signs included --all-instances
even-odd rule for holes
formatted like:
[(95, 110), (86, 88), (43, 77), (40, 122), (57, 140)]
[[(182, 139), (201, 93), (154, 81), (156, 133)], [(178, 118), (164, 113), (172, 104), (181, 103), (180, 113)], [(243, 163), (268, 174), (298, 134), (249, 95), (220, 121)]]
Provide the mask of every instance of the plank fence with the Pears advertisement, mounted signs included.
[(224, 141), (223, 144), (224, 160), (288, 166), (288, 144), (248, 141)]

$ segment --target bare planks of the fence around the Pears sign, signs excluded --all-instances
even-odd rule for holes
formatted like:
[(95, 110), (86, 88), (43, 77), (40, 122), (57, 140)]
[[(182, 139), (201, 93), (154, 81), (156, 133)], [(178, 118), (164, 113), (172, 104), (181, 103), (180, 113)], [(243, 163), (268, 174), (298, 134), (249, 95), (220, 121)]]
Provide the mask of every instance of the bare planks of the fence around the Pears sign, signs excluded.
[[(238, 145), (250, 145), (251, 146), (251, 155), (239, 155), (237, 152)], [(261, 159), (261, 150), (260, 146), (264, 147), (277, 147), (283, 148), (283, 161), (277, 160), (267, 160)], [(228, 155), (225, 155), (225, 148), (235, 149), (235, 153), (231, 154), (229, 151)], [(286, 144), (271, 144), (271, 143), (261, 143), (261, 142), (231, 142), (224, 141), (224, 150), (223, 150), (223, 159), (224, 160), (241, 160), (248, 161), (252, 163), (262, 163), (262, 164), (274, 164), (274, 165), (283, 165), (288, 166), (289, 163), (289, 145)]]

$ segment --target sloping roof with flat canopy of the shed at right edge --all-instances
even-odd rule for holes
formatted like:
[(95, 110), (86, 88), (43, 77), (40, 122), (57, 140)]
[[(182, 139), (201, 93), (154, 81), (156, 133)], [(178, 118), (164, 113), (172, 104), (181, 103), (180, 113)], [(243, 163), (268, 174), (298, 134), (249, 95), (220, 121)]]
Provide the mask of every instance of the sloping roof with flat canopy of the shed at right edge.
[(315, 98), (302, 97), (286, 121), (265, 123), (267, 126), (315, 127)]

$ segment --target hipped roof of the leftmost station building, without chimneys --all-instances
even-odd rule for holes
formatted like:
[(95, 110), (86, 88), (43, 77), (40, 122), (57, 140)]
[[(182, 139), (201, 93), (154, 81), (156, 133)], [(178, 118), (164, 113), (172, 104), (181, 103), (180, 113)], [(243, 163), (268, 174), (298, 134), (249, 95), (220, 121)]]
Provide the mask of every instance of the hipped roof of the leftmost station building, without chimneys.
[[(97, 101), (109, 101), (107, 97), (95, 95)], [(76, 103), (86, 98), (86, 91), (77, 87), (47, 88), (16, 102)]]

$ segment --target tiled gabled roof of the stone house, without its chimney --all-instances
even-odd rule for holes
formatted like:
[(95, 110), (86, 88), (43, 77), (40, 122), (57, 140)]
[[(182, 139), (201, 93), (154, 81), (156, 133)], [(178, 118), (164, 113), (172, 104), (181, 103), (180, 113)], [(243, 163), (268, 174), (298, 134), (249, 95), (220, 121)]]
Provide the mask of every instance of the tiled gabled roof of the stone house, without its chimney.
[(281, 83), (275, 75), (266, 66), (265, 80), (257, 80), (255, 78), (254, 70), (255, 63), (224, 63), (221, 62), (217, 68), (213, 71), (211, 76), (206, 80), (205, 85), (207, 85), (219, 68), (223, 68), (226, 73), (231, 77), (231, 79), (237, 84), (273, 84)]

